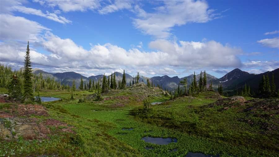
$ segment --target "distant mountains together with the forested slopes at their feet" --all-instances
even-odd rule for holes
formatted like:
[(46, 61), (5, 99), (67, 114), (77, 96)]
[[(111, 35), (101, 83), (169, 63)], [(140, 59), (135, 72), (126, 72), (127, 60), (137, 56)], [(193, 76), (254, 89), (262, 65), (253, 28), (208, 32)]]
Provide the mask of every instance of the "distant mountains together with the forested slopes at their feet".
[[(19, 80), (23, 81), (23, 72), (22, 70), (12, 70), (11, 67), (5, 65), (0, 66), (0, 86), (8, 87), (9, 82), (11, 81), (12, 75), (16, 75)], [(205, 74), (205, 75), (204, 75)], [(110, 76), (105, 76), (107, 81), (111, 81), (115, 75), (115, 81), (117, 89), (120, 89), (122, 84), (123, 74), (120, 72), (112, 73)], [(111, 77), (113, 76), (113, 77)], [(126, 86), (129, 86), (130, 83), (133, 84), (133, 81), (136, 80), (135, 76), (125, 74)], [(108, 80), (109, 77), (109, 80)], [(268, 94), (276, 94), (279, 90), (279, 68), (271, 72), (265, 72), (261, 74), (250, 74), (248, 72), (241, 71), (240, 69), (234, 69), (231, 72), (228, 72), (221, 78), (216, 78), (205, 72), (201, 72), (196, 76), (196, 85), (199, 88), (201, 83), (200, 79), (206, 77), (206, 89), (211, 88), (219, 91), (219, 93), (224, 94), (225, 96), (231, 95), (243, 95), (243, 96), (256, 96), (260, 95), (261, 97), (266, 97)], [(263, 78), (264, 77), (264, 78)], [(82, 76), (76, 72), (63, 72), (63, 73), (49, 73), (44, 72), (40, 69), (33, 70), (32, 83), (33, 88), (37, 91), (42, 89), (59, 89), (59, 90), (95, 90), (102, 85), (104, 75), (97, 76)], [(184, 90), (185, 83), (187, 83), (187, 89), (192, 85), (194, 80), (194, 75), (189, 75), (183, 78), (169, 77), (165, 76), (154, 76), (151, 78), (139, 76), (139, 82), (144, 82), (145, 84), (150, 84), (150, 86), (157, 86), (164, 90), (169, 91), (170, 93), (179, 93)], [(81, 88), (82, 81), (82, 88)], [(184, 81), (184, 83), (183, 83)], [(203, 80), (204, 81), (204, 80)], [(269, 83), (268, 83), (269, 82)], [(203, 83), (204, 84), (204, 83)], [(73, 87), (74, 85), (74, 87)], [(218, 88), (219, 86), (219, 88)], [(179, 87), (179, 89), (178, 89)], [(220, 91), (220, 87), (222, 91)], [(182, 92), (183, 92), (182, 91)]]

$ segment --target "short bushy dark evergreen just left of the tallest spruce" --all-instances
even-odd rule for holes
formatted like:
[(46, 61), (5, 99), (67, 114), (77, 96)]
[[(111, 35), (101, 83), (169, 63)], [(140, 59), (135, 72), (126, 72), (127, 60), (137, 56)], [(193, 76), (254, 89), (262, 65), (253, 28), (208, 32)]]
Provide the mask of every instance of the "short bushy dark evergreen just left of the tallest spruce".
[(8, 92), (10, 98), (13, 98), (15, 101), (22, 101), (21, 82), (15, 75), (12, 77)]

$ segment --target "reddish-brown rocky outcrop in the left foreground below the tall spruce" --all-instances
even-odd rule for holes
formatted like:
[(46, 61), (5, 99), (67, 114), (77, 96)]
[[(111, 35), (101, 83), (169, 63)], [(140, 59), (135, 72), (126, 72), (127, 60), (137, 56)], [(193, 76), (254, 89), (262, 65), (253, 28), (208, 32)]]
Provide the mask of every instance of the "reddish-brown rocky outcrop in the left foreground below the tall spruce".
[(0, 110), (0, 138), (4, 140), (25, 140), (49, 138), (48, 134), (54, 133), (49, 126), (59, 132), (72, 131), (71, 126), (54, 119), (38, 119), (31, 116), (48, 116), (47, 110), (41, 105), (12, 104)]

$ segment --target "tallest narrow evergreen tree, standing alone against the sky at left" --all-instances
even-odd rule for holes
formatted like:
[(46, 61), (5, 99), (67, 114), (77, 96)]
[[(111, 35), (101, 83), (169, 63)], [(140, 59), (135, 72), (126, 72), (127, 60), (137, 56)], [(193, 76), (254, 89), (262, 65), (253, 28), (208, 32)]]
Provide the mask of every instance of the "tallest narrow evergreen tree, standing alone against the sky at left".
[(32, 91), (32, 63), (30, 59), (30, 49), (29, 49), (29, 41), (26, 48), (26, 55), (24, 56), (24, 101), (25, 102), (33, 102), (34, 96)]

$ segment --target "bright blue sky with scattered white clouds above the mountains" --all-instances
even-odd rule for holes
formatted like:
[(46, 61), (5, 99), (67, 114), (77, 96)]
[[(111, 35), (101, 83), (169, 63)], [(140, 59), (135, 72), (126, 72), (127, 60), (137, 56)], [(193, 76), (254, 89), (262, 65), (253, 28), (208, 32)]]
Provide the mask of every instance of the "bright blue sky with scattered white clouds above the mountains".
[(279, 68), (279, 1), (1, 1), (0, 61), (84, 76)]

